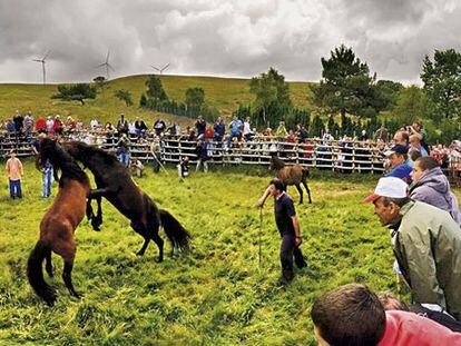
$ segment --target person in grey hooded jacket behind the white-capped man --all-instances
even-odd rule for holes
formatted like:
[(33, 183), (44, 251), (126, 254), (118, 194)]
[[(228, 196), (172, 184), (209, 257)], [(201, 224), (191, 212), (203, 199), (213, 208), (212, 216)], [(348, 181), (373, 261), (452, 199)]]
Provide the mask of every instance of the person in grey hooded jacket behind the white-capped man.
[(412, 199), (448, 211), (461, 226), (457, 197), (450, 191), (450, 182), (435, 159), (431, 157), (419, 158), (414, 162), (412, 178), (413, 184), (410, 186)]

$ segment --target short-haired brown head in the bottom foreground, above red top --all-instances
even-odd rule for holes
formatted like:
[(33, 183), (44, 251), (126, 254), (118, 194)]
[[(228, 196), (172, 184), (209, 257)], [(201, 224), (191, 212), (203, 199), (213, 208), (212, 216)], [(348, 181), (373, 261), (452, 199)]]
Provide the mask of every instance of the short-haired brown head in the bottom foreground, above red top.
[(320, 345), (377, 345), (384, 336), (385, 313), (366, 286), (341, 286), (314, 303), (311, 312)]

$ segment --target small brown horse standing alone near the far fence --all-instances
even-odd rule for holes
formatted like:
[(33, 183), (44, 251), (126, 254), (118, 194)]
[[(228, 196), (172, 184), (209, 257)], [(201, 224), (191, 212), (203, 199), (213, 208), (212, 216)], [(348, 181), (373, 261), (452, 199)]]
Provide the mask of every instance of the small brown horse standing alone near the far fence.
[(283, 182), (285, 189), (288, 185), (296, 186), (296, 189), (301, 196), (300, 205), (303, 204), (303, 190), (301, 189), (301, 184), (303, 184), (307, 191), (308, 202), (312, 204), (311, 190), (308, 189), (306, 181), (306, 178), (308, 177), (307, 168), (303, 168), (297, 164), (294, 166), (286, 166), (286, 164), (282, 161), (277, 156), (272, 155), (269, 169), (277, 170), (277, 178)]

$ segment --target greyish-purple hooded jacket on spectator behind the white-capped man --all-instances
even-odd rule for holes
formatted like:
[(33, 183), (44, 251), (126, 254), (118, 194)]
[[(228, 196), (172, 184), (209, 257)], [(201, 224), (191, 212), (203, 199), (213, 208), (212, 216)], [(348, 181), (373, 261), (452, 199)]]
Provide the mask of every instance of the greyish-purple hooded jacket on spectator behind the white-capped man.
[(431, 169), (421, 177), (420, 181), (412, 185), (410, 197), (450, 212), (457, 224), (461, 226), (457, 197), (450, 191), (450, 182), (440, 167)]

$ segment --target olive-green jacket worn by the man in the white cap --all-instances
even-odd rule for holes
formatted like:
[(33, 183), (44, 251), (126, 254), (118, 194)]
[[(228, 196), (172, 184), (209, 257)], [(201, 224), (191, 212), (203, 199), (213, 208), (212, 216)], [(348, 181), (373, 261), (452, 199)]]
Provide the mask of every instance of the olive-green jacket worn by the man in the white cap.
[(404, 205), (392, 247), (416, 303), (438, 304), (461, 320), (461, 230), (447, 211)]

